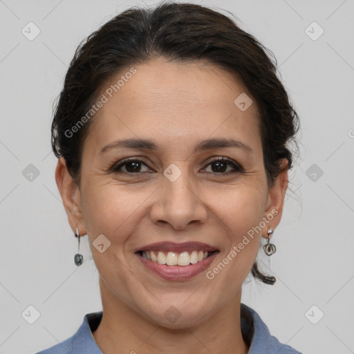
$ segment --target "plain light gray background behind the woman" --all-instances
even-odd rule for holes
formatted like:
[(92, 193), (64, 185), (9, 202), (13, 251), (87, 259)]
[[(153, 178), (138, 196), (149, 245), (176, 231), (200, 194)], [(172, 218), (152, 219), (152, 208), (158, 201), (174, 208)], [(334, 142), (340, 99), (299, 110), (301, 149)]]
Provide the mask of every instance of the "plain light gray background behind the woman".
[[(277, 253), (270, 272), (277, 282), (251, 280), (242, 302), (281, 342), (303, 353), (354, 353), (353, 0), (199, 2), (232, 12), (273, 51), (302, 124), (301, 159), (272, 237)], [(93, 260), (80, 268), (73, 262), (77, 239), (50, 152), (52, 104), (80, 41), (134, 5), (145, 4), (0, 0), (0, 353), (57, 344), (75, 333), (86, 313), (101, 310)], [(41, 30), (32, 41), (21, 33), (30, 21)], [(313, 21), (324, 29), (316, 41), (305, 32)], [(40, 172), (32, 181), (22, 174), (29, 164)], [(316, 180), (308, 171), (313, 164), (324, 172)], [(81, 245), (87, 259), (87, 237)], [(267, 272), (263, 250), (259, 259)], [(21, 317), (30, 305), (40, 313), (34, 324)], [(320, 311), (324, 317), (311, 323)]]

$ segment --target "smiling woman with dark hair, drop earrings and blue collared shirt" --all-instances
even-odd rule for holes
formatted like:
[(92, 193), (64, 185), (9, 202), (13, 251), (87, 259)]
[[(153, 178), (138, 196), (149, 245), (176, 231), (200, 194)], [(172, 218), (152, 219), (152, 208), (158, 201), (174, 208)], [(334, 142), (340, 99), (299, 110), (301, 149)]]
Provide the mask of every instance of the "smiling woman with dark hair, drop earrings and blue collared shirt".
[[(281, 220), (297, 113), (265, 48), (218, 12), (133, 8), (78, 48), (55, 177), (101, 313), (54, 353), (299, 353), (241, 304)], [(75, 263), (85, 261), (80, 252)]]

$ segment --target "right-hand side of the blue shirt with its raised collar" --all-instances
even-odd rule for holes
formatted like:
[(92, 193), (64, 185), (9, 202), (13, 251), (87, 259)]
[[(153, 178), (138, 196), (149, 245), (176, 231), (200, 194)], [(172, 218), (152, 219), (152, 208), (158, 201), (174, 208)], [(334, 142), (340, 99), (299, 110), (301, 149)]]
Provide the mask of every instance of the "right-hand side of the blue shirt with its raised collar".
[(248, 354), (301, 354), (271, 335), (259, 314), (245, 304), (241, 304), (241, 329), (243, 336), (250, 339)]

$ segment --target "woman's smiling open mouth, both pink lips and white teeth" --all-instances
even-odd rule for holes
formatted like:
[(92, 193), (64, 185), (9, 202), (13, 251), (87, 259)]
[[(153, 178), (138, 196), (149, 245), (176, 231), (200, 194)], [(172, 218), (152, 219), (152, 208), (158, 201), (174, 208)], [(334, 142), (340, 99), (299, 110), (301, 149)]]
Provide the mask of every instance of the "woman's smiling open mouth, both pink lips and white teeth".
[(147, 270), (167, 280), (186, 280), (209, 267), (219, 250), (200, 242), (153, 243), (135, 254)]

